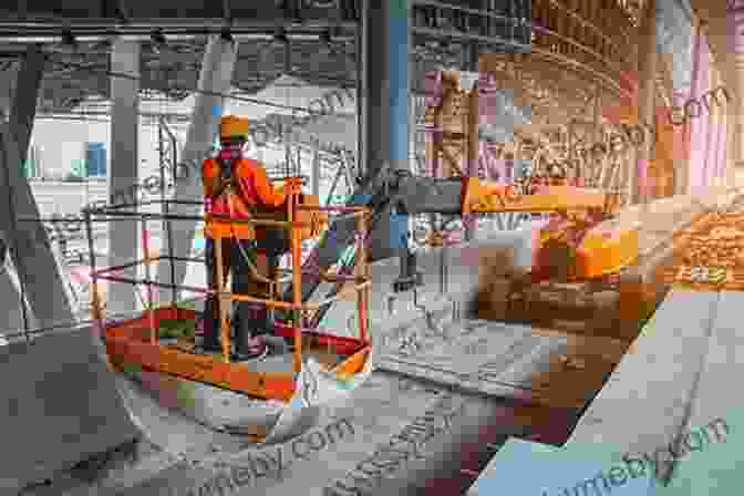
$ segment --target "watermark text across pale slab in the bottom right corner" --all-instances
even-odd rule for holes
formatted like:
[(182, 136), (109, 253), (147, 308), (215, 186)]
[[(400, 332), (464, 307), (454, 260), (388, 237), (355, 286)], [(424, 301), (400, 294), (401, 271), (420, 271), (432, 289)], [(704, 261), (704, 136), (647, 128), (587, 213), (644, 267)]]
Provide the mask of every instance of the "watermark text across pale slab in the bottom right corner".
[[(608, 471), (600, 472), (592, 478), (579, 482), (574, 486), (572, 493), (569, 488), (564, 488), (560, 494), (602, 496), (602, 493), (610, 494), (613, 488), (628, 484), (629, 479), (650, 476), (660, 479), (672, 463), (678, 462), (691, 452), (702, 451), (705, 443), (711, 444), (709, 433), (712, 432), (717, 442), (725, 442), (728, 431), (728, 424), (723, 418), (715, 418), (698, 431), (680, 434), (674, 442), (666, 446), (658, 447), (652, 452), (644, 453), (641, 457), (633, 458), (629, 454), (626, 454), (622, 456), (624, 467), (613, 466)], [(703, 438), (705, 442), (703, 442)], [(648, 473), (647, 467), (649, 467)], [(547, 489), (544, 489), (541, 496), (548, 496)]]

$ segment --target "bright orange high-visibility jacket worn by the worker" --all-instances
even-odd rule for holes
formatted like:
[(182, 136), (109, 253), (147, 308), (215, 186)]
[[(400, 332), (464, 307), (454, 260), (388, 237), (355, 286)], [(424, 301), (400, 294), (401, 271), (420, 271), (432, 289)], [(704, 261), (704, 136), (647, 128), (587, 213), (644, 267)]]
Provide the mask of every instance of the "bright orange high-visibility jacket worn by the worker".
[[(232, 215), (235, 218), (250, 218), (251, 209), (279, 209), (286, 206), (287, 196), (282, 189), (275, 189), (259, 162), (239, 158), (232, 162), (234, 195), (220, 194), (220, 163), (207, 158), (202, 164), (204, 182), (205, 220), (204, 234), (208, 238), (260, 238), (262, 229), (255, 229), (247, 223), (230, 223), (213, 214)], [(228, 202), (231, 203), (231, 208)], [(231, 211), (230, 211), (231, 210)], [(255, 234), (255, 231), (259, 231)]]

